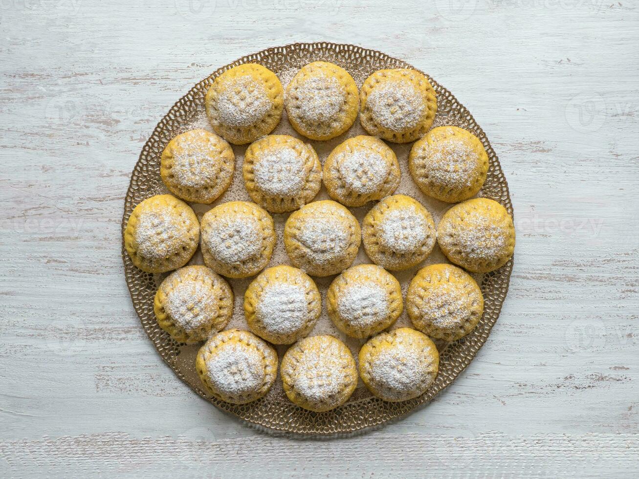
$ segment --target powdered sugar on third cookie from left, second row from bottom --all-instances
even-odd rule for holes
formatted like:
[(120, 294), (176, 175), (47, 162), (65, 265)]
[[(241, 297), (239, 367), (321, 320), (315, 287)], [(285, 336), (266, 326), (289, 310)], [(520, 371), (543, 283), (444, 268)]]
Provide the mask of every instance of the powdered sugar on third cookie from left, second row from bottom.
[(373, 281), (351, 282), (337, 296), (337, 312), (344, 321), (358, 328), (368, 328), (389, 316), (389, 297)]

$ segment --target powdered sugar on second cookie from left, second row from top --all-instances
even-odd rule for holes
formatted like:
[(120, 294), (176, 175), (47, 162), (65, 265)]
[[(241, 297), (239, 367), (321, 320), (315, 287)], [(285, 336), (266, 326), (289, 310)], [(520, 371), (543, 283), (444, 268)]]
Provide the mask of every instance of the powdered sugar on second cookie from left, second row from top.
[(262, 151), (254, 166), (256, 186), (265, 194), (291, 197), (304, 187), (304, 158), (289, 146)]

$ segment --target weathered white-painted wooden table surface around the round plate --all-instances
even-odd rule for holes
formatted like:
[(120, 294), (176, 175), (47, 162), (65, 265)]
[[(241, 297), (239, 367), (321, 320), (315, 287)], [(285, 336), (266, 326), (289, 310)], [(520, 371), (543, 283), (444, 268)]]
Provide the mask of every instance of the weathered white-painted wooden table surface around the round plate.
[[(0, 476), (637, 476), (639, 8), (629, 0), (0, 3)], [(157, 121), (236, 57), (356, 43), (435, 77), (504, 168), (518, 244), (486, 346), (382, 429), (245, 427), (162, 363), (120, 220)]]

